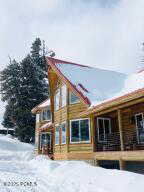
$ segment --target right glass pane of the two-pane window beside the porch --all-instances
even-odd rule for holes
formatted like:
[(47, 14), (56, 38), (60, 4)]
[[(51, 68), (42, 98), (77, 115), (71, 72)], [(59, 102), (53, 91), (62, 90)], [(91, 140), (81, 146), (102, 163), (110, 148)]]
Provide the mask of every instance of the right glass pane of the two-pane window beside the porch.
[(89, 120), (81, 120), (80, 121), (80, 140), (81, 141), (89, 141)]

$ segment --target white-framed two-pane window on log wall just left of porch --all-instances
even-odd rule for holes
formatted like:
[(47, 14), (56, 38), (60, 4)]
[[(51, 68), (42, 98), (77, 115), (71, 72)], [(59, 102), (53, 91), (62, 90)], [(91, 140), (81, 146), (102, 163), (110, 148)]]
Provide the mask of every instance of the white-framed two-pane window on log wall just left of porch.
[(90, 125), (89, 119), (72, 120), (71, 121), (71, 143), (89, 142), (90, 141)]

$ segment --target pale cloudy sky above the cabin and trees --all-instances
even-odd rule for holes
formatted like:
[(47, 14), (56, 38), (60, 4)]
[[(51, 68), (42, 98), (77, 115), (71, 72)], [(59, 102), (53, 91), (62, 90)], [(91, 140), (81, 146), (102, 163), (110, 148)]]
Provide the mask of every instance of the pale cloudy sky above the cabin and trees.
[[(0, 69), (21, 60), (36, 37), (59, 59), (123, 73), (143, 67), (144, 0), (5, 0)], [(0, 119), (4, 106), (0, 103)]]

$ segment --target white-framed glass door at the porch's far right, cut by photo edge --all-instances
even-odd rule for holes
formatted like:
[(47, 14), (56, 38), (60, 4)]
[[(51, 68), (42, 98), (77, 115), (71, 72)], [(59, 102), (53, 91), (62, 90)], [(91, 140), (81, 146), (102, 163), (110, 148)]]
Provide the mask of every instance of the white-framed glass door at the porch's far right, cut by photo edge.
[(143, 113), (135, 115), (138, 143), (144, 144), (144, 119)]

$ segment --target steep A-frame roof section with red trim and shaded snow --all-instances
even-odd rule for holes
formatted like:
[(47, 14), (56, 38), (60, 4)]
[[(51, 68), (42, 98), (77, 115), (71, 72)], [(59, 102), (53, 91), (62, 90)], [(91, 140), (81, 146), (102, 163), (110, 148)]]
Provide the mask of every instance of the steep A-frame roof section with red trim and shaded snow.
[(47, 57), (48, 64), (88, 105), (119, 92), (126, 75)]

